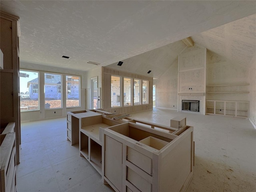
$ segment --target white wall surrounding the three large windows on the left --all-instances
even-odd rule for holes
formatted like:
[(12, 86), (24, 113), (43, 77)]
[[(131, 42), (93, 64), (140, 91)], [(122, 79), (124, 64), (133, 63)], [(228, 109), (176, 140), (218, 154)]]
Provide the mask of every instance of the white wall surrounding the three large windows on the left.
[[(86, 87), (86, 76), (85, 72), (77, 70), (69, 70), (64, 68), (56, 68), (51, 66), (43, 66), (37, 64), (31, 64), (26, 62), (20, 62), (21, 70), (34, 70), (39, 72), (39, 78), (44, 79), (44, 72), (52, 72), (59, 74), (70, 74), (81, 77), (81, 92), (80, 92), (80, 107), (74, 108), (60, 108), (60, 109), (44, 109), (44, 92), (40, 91), (40, 110), (37, 111), (22, 111), (20, 113), (21, 122), (38, 121), (51, 118), (65, 117), (66, 112), (84, 110), (85, 109), (85, 87)], [(62, 81), (66, 81), (65, 76), (62, 76)], [(40, 81), (39, 89), (44, 90), (44, 81)], [(66, 86), (62, 88), (62, 94), (66, 94)], [(63, 97), (62, 97), (63, 98)], [(62, 106), (66, 106), (66, 100), (62, 99)]]

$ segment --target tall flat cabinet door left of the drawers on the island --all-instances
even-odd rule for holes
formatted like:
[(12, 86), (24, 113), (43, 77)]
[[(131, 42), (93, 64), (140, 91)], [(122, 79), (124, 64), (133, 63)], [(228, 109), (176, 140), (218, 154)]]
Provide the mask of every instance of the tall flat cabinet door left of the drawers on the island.
[(122, 143), (106, 135), (105, 177), (122, 191)]

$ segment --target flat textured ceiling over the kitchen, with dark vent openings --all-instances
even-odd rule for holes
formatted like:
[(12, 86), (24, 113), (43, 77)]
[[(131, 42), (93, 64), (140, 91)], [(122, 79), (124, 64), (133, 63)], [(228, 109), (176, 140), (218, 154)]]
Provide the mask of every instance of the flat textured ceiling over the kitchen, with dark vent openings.
[(1, 0), (0, 4), (1, 10), (20, 17), (21, 61), (76, 70), (96, 67), (88, 61), (113, 64), (256, 13), (256, 1)]

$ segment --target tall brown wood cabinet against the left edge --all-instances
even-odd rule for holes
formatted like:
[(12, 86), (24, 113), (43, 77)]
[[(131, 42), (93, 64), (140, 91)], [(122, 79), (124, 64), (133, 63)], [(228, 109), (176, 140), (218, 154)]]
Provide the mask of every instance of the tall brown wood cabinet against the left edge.
[(15, 122), (16, 162), (20, 162), (19, 17), (0, 12), (0, 49), (4, 65), (0, 71), (0, 126)]

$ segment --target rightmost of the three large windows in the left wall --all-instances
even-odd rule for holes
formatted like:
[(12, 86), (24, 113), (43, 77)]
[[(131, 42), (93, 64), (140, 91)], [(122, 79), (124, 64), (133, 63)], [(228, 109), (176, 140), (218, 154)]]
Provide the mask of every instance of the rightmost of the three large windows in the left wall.
[(80, 77), (66, 76), (66, 106), (80, 106)]

